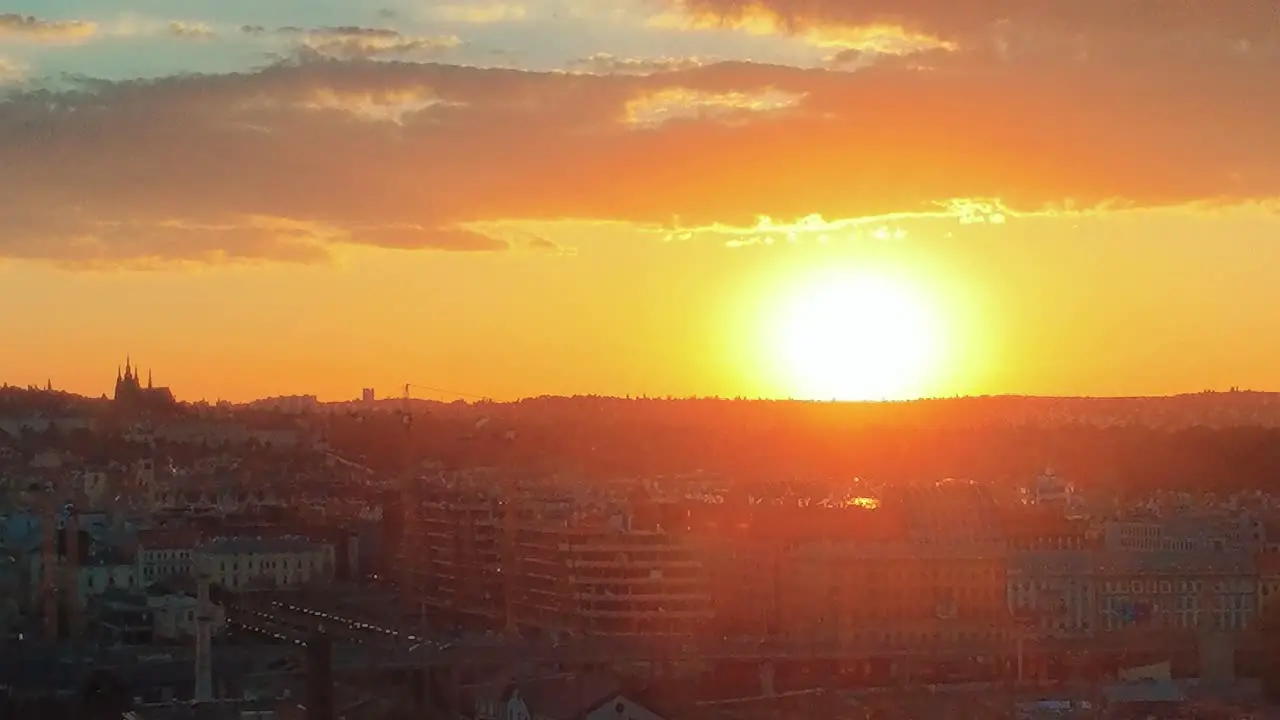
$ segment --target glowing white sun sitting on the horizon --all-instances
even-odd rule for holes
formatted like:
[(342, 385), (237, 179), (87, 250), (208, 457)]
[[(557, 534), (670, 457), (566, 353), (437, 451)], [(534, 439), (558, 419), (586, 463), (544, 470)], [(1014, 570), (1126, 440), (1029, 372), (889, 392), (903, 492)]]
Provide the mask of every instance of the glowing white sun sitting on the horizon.
[(927, 296), (887, 273), (805, 278), (772, 336), (786, 386), (809, 400), (920, 397), (942, 363), (942, 323)]

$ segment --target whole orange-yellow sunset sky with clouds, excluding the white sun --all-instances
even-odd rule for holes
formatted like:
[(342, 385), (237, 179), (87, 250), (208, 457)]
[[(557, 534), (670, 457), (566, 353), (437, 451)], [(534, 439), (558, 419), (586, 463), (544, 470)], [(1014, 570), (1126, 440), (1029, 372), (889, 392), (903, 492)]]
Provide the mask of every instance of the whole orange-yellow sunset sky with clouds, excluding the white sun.
[(1274, 3), (180, 6), (0, 14), (3, 380), (794, 396), (849, 268), (909, 395), (1280, 389)]

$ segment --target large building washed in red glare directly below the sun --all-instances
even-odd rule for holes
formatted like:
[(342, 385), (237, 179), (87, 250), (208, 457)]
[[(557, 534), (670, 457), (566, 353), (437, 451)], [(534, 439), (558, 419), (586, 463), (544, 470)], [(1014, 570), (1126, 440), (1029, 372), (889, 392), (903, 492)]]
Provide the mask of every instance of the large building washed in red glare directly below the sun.
[(777, 561), (777, 634), (922, 651), (996, 648), (1011, 624), (1006, 551), (984, 488), (945, 482), (882, 493), (874, 507), (762, 516), (787, 537)]

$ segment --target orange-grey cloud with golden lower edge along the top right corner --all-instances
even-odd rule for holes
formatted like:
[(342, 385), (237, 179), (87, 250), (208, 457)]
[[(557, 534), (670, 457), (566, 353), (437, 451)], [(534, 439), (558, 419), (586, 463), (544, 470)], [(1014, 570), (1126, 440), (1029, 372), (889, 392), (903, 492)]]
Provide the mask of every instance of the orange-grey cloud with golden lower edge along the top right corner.
[(1152, 60), (1265, 51), (1280, 44), (1270, 0), (654, 0), (654, 22), (788, 35), (888, 54), (950, 50), (1000, 59)]

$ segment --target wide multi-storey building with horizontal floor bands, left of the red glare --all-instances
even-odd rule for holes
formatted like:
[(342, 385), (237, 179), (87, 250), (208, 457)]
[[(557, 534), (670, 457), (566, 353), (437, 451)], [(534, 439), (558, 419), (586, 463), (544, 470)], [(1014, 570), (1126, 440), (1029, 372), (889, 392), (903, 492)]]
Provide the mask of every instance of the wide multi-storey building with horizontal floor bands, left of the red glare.
[(509, 632), (691, 635), (712, 616), (694, 543), (631, 502), (497, 497), (424, 483), (404, 519), (403, 583), (428, 611)]

